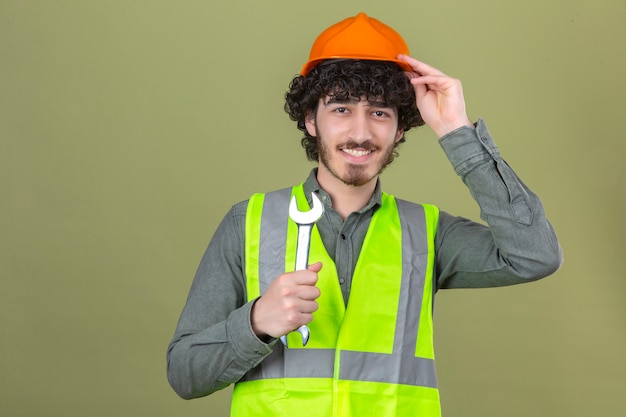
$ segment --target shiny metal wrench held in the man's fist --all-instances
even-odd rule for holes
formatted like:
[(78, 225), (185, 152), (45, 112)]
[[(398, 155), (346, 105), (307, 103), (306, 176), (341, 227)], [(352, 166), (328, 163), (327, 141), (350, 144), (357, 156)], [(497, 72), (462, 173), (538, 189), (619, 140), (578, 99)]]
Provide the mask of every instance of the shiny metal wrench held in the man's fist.
[[(298, 210), (296, 196), (291, 197), (289, 204), (289, 217), (298, 225), (298, 245), (296, 247), (296, 271), (307, 269), (309, 263), (309, 246), (311, 245), (311, 230), (313, 224), (324, 214), (324, 205), (315, 193), (311, 193), (313, 207), (309, 211)], [(305, 324), (294, 330), (302, 335), (302, 345), (306, 346), (309, 341), (309, 327)], [(287, 344), (287, 335), (281, 336), (280, 341), (285, 347)]]

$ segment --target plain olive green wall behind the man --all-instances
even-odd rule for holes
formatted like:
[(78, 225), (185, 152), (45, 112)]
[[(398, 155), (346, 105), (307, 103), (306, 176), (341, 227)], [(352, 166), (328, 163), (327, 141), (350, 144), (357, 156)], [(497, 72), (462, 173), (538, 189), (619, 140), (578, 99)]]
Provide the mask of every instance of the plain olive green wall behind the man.
[[(565, 250), (439, 294), (444, 415), (624, 415), (624, 0), (0, 0), (0, 415), (228, 414), (176, 397), (167, 343), (230, 206), (311, 168), (282, 97), (361, 10), (463, 80)], [(477, 218), (426, 128), (383, 181)]]

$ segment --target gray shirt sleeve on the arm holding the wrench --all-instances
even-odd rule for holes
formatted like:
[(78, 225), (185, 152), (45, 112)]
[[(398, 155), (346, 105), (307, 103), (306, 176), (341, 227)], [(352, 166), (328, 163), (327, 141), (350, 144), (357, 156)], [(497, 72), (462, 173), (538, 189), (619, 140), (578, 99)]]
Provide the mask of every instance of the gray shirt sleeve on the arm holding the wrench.
[(247, 204), (226, 215), (202, 257), (174, 337), (167, 377), (182, 398), (211, 394), (237, 382), (272, 352), (252, 331), (243, 266)]

